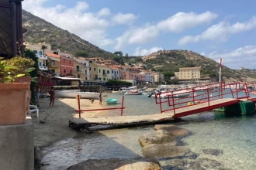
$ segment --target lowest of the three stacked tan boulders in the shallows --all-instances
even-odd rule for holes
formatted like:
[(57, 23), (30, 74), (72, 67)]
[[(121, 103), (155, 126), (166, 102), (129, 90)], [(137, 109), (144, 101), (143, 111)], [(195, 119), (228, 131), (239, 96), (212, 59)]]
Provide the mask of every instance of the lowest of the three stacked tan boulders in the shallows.
[(145, 158), (176, 158), (191, 153), (184, 146), (173, 146), (170, 143), (145, 145), (142, 152)]

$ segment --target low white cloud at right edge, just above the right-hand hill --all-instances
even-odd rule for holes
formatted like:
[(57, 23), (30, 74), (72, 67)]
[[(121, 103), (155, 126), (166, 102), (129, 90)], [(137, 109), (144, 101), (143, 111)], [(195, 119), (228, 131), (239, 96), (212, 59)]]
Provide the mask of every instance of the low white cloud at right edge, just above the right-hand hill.
[(231, 69), (239, 69), (244, 66), (248, 69), (256, 69), (254, 64), (256, 56), (256, 46), (243, 46), (227, 53), (209, 53), (211, 59), (219, 62), (220, 58), (223, 58), (223, 65), (228, 66)]

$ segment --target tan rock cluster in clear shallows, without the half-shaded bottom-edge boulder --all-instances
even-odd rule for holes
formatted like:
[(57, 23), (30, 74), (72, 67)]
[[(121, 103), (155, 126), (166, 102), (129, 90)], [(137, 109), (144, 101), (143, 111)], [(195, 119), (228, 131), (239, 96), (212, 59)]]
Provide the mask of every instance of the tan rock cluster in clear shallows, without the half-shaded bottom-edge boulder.
[[(141, 135), (138, 141), (142, 147), (144, 157), (156, 159), (161, 165), (162, 170), (231, 170), (230, 168), (224, 168), (216, 160), (203, 158), (204, 155), (222, 155), (223, 151), (212, 148), (203, 149), (200, 155), (186, 148), (185, 144), (181, 141), (182, 138), (190, 134), (186, 129), (175, 125), (157, 124), (154, 126), (154, 130), (153, 132)], [(202, 158), (199, 158), (199, 156)]]

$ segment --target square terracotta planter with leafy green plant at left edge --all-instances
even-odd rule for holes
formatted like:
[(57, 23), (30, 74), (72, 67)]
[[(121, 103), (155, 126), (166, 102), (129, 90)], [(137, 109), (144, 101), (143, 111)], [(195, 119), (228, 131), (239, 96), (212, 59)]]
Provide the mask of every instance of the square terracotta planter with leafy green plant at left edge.
[[(31, 97), (29, 72), (33, 64), (32, 59), (21, 56), (0, 60), (0, 125), (26, 122)], [(20, 77), (29, 79), (19, 80)]]

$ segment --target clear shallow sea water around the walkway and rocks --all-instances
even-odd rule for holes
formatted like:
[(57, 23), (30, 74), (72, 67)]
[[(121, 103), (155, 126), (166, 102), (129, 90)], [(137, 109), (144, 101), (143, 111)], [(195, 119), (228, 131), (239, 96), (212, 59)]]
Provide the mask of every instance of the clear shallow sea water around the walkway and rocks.
[[(111, 93), (109, 98), (122, 101), (122, 95)], [(123, 115), (143, 115), (160, 113), (154, 99), (146, 95), (125, 96)], [(120, 110), (111, 110), (109, 115), (119, 115)], [(182, 138), (186, 148), (198, 155), (220, 162), (229, 169), (256, 169), (256, 117), (227, 117), (221, 112), (203, 112), (182, 117), (185, 124), (179, 127), (189, 130), (191, 135)], [(135, 128), (119, 128), (79, 134), (76, 138), (57, 141), (43, 148), (42, 162), (48, 164), (41, 169), (66, 169), (87, 159), (136, 158), (143, 156), (138, 142), (140, 135), (154, 131), (154, 125)], [(221, 155), (206, 155), (203, 149), (222, 151)], [(170, 168), (171, 169), (171, 168)]]

